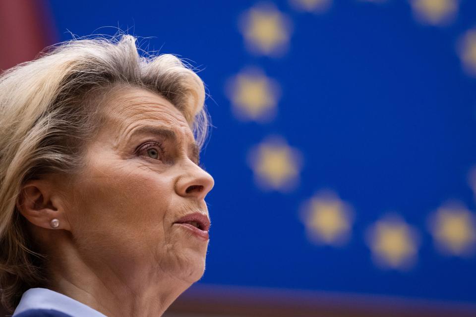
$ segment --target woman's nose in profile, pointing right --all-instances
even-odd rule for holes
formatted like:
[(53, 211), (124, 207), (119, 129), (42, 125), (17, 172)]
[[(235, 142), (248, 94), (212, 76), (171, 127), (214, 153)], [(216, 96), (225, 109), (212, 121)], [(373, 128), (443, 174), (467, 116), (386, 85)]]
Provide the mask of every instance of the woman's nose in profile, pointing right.
[(204, 199), (215, 185), (213, 177), (191, 160), (188, 160), (186, 167), (182, 165), (181, 168), (186, 172), (176, 182), (175, 190), (177, 194), (182, 197), (193, 197), (197, 200)]

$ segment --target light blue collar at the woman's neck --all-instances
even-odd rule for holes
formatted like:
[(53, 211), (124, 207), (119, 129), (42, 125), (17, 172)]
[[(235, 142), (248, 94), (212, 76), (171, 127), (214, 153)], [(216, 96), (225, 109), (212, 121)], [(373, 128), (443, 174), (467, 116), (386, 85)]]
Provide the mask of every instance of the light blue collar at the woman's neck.
[(30, 288), (21, 296), (13, 317), (30, 309), (53, 309), (72, 317), (106, 317), (71, 297), (47, 288)]

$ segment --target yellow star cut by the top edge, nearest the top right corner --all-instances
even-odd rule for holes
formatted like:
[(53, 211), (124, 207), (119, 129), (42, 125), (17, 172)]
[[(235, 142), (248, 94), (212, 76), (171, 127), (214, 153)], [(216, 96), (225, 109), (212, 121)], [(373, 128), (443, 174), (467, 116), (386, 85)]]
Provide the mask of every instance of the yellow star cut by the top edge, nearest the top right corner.
[(458, 11), (458, 0), (412, 0), (410, 3), (416, 19), (425, 24), (446, 24)]

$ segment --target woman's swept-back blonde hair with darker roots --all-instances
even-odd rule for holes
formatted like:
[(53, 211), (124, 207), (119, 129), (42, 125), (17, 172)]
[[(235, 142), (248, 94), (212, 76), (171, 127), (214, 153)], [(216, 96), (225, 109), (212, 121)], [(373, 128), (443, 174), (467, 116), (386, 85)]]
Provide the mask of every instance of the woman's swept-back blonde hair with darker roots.
[(172, 54), (140, 56), (135, 41), (71, 40), (0, 75), (0, 297), (10, 312), (24, 291), (46, 282), (45, 256), (16, 207), (22, 185), (81, 170), (85, 140), (103, 120), (93, 96), (123, 85), (149, 89), (183, 113), (199, 148), (206, 140), (202, 80)]

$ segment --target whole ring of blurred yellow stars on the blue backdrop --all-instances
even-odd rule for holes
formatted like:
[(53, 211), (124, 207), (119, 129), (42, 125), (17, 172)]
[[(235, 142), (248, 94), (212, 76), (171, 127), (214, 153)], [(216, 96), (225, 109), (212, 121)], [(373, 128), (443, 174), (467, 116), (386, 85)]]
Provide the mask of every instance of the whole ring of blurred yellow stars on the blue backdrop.
[[(445, 26), (454, 21), (460, 2), (408, 1), (415, 20), (429, 26)], [(289, 0), (289, 4), (300, 12), (324, 13), (332, 6), (332, 0)], [(259, 2), (239, 17), (238, 29), (249, 53), (280, 57), (288, 51), (293, 24), (275, 4)], [(461, 36), (457, 51), (464, 70), (476, 76), (476, 29)], [(277, 115), (281, 89), (277, 80), (268, 77), (264, 70), (248, 67), (229, 79), (226, 94), (238, 119), (264, 123)], [(298, 186), (302, 155), (282, 136), (270, 136), (251, 148), (247, 161), (253, 170), (256, 185), (263, 190), (286, 193)], [(470, 173), (470, 185), (476, 197), (476, 167)], [(318, 245), (344, 245), (351, 235), (354, 217), (351, 205), (332, 191), (317, 192), (300, 208), (306, 235)], [(450, 256), (473, 254), (476, 246), (475, 219), (476, 216), (461, 204), (442, 205), (428, 217), (428, 228), (435, 247)], [(370, 225), (365, 239), (377, 266), (405, 270), (416, 263), (419, 234), (397, 214), (388, 214)]]

